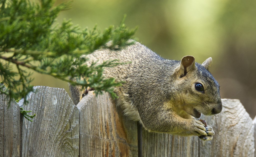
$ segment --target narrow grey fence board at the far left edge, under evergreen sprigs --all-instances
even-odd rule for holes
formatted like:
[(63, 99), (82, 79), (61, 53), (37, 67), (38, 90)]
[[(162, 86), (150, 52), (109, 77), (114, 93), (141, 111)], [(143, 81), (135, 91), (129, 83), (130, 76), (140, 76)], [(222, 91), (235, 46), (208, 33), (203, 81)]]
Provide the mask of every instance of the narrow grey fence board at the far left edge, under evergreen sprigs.
[(0, 94), (0, 156), (20, 156), (20, 109)]

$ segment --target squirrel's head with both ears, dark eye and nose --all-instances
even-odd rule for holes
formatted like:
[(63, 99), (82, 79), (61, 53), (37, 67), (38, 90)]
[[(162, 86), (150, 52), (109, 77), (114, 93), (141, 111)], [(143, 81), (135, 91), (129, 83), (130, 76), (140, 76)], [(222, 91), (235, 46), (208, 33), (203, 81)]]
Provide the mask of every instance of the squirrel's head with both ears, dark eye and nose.
[(211, 63), (211, 57), (199, 64), (193, 56), (185, 56), (174, 71), (174, 97), (180, 108), (196, 118), (222, 110), (220, 86), (209, 72)]

